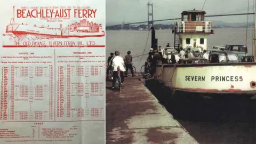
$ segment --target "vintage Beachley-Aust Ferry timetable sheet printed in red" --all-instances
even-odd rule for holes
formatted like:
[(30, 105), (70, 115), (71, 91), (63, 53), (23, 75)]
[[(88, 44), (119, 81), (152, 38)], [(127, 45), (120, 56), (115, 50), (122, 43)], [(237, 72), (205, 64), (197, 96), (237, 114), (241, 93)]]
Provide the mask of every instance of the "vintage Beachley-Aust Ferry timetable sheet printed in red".
[(105, 0), (0, 3), (0, 143), (105, 143)]

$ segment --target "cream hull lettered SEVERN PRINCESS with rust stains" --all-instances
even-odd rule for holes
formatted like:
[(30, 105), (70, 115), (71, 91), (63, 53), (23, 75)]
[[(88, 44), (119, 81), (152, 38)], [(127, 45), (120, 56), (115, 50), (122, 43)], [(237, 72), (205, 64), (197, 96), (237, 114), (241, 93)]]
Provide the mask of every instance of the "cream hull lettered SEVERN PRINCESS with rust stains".
[(256, 94), (256, 63), (205, 63), (198, 66), (158, 66), (156, 75), (164, 86), (194, 93)]

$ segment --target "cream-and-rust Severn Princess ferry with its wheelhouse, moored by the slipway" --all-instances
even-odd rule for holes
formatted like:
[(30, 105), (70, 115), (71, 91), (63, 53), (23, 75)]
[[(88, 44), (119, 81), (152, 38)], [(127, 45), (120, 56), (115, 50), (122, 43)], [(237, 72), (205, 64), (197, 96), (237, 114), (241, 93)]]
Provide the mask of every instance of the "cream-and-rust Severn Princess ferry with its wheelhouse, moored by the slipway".
[[(180, 47), (190, 46), (201, 47), (201, 51), (207, 50), (207, 36), (214, 34), (214, 30), (210, 21), (204, 21), (205, 13), (195, 10), (181, 13), (181, 21), (175, 22), (172, 30), (175, 35), (174, 49), (180, 51)], [(256, 94), (256, 77), (253, 77), (256, 63), (232, 62), (228, 60), (229, 55), (225, 51), (222, 53), (226, 60), (219, 63), (157, 65), (155, 79), (171, 89), (172, 95), (176, 92), (188, 92), (198, 96), (211, 93), (221, 96), (245, 94), (253, 97)], [(211, 59), (210, 55), (209, 62)]]

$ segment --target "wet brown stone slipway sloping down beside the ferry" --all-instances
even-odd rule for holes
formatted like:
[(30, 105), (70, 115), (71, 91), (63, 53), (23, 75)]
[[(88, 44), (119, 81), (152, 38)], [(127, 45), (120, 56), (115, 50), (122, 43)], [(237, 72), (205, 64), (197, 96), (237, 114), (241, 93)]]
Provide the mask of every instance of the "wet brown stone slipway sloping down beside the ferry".
[(106, 143), (198, 143), (139, 81), (128, 77), (121, 92), (106, 82)]

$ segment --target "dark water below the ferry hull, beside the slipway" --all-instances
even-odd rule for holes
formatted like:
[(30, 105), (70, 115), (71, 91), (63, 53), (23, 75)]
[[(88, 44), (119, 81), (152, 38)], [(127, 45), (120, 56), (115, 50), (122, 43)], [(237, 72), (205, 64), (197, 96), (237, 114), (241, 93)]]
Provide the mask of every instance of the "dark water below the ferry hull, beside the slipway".
[(256, 143), (256, 100), (203, 99), (177, 93), (153, 79), (146, 87), (199, 143)]

